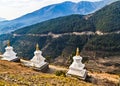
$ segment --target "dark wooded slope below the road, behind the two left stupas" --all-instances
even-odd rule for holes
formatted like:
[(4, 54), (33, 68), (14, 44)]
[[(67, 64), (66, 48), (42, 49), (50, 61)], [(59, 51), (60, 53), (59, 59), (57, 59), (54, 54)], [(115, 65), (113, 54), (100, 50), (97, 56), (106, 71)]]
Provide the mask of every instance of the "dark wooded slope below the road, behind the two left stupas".
[[(6, 37), (7, 36), (5, 35), (5, 38)], [(6, 39), (4, 41), (7, 41)], [(52, 59), (62, 54), (66, 55), (66, 53), (72, 53), (77, 47), (82, 49), (88, 38), (87, 36), (65, 35), (56, 39), (49, 36), (37, 37), (23, 35), (20, 37), (11, 36), (9, 40), (11, 41), (11, 45), (14, 47), (14, 51), (17, 52), (17, 55), (24, 57), (25, 59), (31, 59), (33, 57), (35, 45), (38, 43), (40, 49), (43, 51), (43, 56), (50, 57), (46, 60), (51, 62)], [(4, 48), (6, 47), (3, 43), (3, 41), (0, 41), (1, 52), (4, 52)]]

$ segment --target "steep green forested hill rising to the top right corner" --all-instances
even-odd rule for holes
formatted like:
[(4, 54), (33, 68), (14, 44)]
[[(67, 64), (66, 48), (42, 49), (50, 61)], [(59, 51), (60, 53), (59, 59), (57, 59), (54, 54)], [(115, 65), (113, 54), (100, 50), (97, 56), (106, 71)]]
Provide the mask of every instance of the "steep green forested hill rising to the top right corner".
[(120, 30), (120, 1), (104, 7), (93, 14), (91, 21), (96, 30), (112, 32)]

